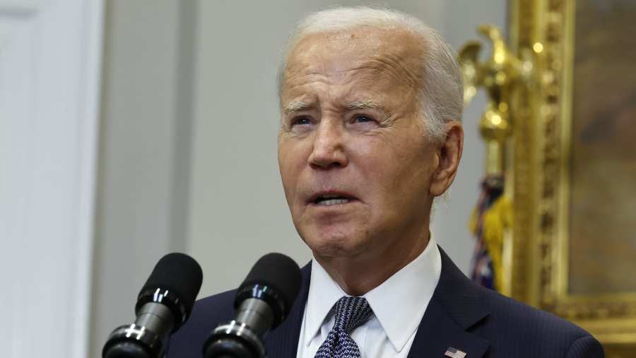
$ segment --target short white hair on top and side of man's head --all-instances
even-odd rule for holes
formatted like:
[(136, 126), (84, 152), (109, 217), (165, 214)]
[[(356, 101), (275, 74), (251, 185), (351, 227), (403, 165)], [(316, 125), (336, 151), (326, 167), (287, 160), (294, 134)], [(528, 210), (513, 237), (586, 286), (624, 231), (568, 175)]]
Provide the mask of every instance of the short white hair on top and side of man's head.
[[(423, 76), (419, 86), (419, 109), (425, 133), (430, 139), (444, 138), (444, 122), (461, 120), (464, 110), (464, 85), (452, 47), (418, 18), (399, 11), (379, 8), (338, 7), (312, 13), (296, 26), (278, 72), (278, 97), (290, 52), (306, 35), (371, 27), (407, 30), (422, 46)], [(281, 103), (282, 104), (282, 103)]]

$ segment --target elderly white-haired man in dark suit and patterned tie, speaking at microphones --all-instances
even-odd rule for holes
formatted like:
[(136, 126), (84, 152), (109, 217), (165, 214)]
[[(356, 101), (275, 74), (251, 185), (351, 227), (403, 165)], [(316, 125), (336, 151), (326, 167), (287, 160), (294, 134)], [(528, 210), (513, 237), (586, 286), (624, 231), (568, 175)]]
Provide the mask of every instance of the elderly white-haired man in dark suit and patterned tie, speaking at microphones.
[[(461, 76), (435, 31), (395, 11), (315, 13), (279, 94), (278, 164), (314, 260), (269, 357), (603, 357), (584, 330), (472, 284), (430, 234), (463, 141)], [(199, 301), (169, 357), (201, 357), (233, 297)]]

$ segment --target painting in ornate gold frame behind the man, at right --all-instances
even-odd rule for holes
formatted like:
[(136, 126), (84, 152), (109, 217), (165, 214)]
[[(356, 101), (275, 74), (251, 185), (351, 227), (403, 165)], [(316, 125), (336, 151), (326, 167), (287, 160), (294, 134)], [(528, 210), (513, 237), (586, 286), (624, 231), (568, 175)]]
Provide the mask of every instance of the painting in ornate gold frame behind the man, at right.
[(511, 104), (505, 293), (636, 357), (636, 0), (509, 6), (512, 50), (538, 54)]

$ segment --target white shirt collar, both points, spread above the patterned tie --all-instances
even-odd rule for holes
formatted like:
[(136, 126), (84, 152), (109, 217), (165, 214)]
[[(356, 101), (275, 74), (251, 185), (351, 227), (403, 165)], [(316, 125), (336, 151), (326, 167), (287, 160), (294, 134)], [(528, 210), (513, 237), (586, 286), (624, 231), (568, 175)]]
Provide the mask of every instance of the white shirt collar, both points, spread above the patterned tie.
[[(442, 257), (431, 234), (426, 248), (415, 260), (363, 296), (397, 352), (404, 348), (420, 325), (441, 272)], [(305, 345), (318, 334), (329, 311), (342, 296), (348, 295), (313, 260), (305, 316)]]

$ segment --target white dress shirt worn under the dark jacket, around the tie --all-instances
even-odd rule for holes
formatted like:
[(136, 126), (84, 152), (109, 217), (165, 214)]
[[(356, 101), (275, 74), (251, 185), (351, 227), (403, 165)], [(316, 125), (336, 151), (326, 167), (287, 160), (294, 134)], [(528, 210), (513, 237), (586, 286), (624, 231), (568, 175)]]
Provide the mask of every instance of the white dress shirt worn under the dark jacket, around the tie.
[[(360, 357), (406, 358), (440, 272), (442, 257), (431, 235), (425, 250), (415, 260), (363, 296), (374, 315), (350, 333), (360, 347)], [(314, 358), (334, 326), (332, 308), (342, 296), (348, 294), (314, 259), (296, 357)]]

